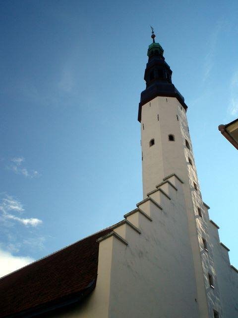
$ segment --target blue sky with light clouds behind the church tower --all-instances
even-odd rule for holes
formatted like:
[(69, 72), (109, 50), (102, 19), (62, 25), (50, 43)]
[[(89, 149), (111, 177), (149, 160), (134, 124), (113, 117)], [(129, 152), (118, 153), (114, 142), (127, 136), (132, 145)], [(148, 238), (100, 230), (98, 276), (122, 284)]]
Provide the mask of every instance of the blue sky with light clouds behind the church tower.
[[(153, 25), (188, 105), (204, 202), (238, 267), (238, 2), (0, 2), (0, 257), (38, 259), (142, 199), (140, 92)], [(8, 262), (8, 264), (9, 264)]]

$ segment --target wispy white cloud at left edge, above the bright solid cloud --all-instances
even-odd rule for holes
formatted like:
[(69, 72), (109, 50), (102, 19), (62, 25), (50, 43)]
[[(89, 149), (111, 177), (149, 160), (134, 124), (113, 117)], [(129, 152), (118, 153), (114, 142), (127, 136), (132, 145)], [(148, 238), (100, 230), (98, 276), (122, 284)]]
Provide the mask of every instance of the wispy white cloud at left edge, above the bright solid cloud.
[(2, 218), (5, 220), (12, 220), (19, 222), (25, 226), (32, 226), (36, 227), (42, 223), (42, 220), (36, 219), (36, 218), (22, 218), (16, 215), (13, 215), (13, 213), (23, 213), (24, 208), (20, 201), (14, 199), (12, 196), (4, 195), (4, 197), (0, 201), (0, 212), (2, 215)]

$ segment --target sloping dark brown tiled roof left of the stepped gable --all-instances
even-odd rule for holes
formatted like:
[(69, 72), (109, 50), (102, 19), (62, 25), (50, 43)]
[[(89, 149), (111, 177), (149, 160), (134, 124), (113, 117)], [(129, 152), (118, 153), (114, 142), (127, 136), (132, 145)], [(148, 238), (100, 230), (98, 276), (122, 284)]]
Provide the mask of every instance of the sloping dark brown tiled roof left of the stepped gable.
[(46, 308), (47, 304), (82, 295), (89, 286), (94, 288), (98, 270), (97, 239), (111, 231), (98, 232), (1, 278), (0, 317)]

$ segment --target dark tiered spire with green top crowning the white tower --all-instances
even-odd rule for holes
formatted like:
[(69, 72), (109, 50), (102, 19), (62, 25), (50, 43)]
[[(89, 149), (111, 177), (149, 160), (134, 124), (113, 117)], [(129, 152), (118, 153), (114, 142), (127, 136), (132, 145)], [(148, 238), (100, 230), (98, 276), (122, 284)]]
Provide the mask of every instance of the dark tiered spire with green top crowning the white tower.
[(157, 96), (176, 97), (183, 108), (187, 109), (183, 96), (172, 83), (172, 70), (165, 62), (164, 50), (160, 43), (155, 42), (154, 29), (151, 27), (151, 30), (153, 43), (149, 45), (147, 51), (148, 63), (146, 64), (144, 76), (146, 89), (141, 93), (138, 111), (139, 122), (141, 121), (142, 106)]

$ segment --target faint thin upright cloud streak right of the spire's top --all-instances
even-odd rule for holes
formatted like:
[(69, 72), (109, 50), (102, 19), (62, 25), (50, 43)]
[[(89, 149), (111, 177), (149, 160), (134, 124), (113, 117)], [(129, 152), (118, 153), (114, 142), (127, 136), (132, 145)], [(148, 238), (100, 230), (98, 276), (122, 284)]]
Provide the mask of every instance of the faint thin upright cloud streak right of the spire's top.
[(210, 35), (208, 52), (204, 58), (203, 81), (206, 81), (209, 78), (211, 71), (212, 71), (212, 68), (214, 66), (216, 46), (218, 43), (218, 38), (219, 38), (220, 32), (223, 28), (223, 24), (224, 24), (224, 22), (222, 20), (220, 20)]

